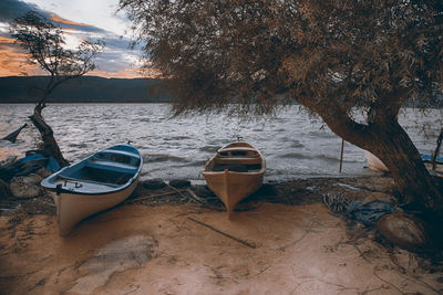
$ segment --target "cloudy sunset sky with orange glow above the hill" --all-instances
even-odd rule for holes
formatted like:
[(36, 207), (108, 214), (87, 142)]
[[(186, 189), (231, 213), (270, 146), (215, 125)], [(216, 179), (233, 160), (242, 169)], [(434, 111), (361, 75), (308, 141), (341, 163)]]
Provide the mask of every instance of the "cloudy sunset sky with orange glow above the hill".
[(87, 75), (140, 77), (140, 56), (128, 49), (130, 22), (116, 13), (119, 0), (0, 0), (0, 76), (44, 75), (27, 63), (23, 52), (10, 38), (9, 27), (30, 10), (63, 28), (68, 43), (80, 39), (101, 39), (105, 49), (95, 57), (96, 70)]

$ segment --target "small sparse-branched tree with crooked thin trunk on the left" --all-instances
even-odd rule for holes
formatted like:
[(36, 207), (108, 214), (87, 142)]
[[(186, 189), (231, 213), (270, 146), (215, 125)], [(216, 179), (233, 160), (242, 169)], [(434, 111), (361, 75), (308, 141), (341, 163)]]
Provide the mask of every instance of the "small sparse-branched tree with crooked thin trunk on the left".
[(20, 46), (28, 52), (28, 61), (49, 74), (48, 83), (40, 88), (41, 96), (30, 119), (41, 134), (43, 150), (61, 166), (66, 166), (69, 162), (60, 151), (52, 128), (44, 122), (42, 110), (55, 87), (95, 69), (93, 59), (104, 44), (101, 41), (82, 40), (75, 49), (70, 49), (62, 29), (34, 11), (17, 18), (10, 31)]

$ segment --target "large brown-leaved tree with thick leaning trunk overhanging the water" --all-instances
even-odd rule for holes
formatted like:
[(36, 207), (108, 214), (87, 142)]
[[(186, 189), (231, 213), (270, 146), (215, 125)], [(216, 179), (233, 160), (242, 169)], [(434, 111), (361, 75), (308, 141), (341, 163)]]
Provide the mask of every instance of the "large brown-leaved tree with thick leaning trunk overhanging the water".
[(378, 156), (405, 203), (442, 209), (442, 188), (398, 122), (406, 104), (442, 105), (442, 1), (120, 0), (120, 8), (148, 66), (174, 82), (177, 113), (231, 103), (268, 113), (298, 102)]

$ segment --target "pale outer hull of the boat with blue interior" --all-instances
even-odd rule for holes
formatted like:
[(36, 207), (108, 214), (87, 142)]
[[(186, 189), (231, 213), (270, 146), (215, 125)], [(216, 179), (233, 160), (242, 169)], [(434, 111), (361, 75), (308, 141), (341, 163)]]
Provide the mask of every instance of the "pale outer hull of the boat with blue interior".
[(50, 191), (56, 207), (59, 234), (66, 236), (83, 219), (110, 209), (123, 202), (137, 187), (134, 181), (130, 187), (107, 194), (76, 194)]

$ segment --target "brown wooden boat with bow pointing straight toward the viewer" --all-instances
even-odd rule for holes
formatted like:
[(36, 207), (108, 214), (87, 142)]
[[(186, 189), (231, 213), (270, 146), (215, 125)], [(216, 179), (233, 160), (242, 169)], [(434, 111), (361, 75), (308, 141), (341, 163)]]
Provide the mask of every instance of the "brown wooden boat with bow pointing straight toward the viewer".
[(236, 204), (261, 187), (265, 169), (261, 154), (248, 143), (237, 141), (219, 149), (202, 173), (230, 218)]

